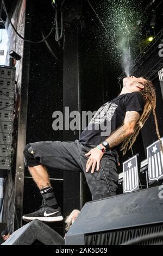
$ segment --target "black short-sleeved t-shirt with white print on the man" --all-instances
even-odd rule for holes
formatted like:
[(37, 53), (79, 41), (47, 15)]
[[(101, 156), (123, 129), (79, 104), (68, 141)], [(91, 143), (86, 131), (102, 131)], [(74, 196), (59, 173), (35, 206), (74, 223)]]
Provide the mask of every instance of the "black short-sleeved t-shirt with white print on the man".
[(141, 114), (143, 108), (144, 100), (139, 92), (118, 95), (98, 109), (80, 135), (79, 142), (85, 145), (102, 143), (123, 124), (127, 111), (137, 111)]

